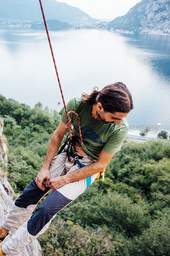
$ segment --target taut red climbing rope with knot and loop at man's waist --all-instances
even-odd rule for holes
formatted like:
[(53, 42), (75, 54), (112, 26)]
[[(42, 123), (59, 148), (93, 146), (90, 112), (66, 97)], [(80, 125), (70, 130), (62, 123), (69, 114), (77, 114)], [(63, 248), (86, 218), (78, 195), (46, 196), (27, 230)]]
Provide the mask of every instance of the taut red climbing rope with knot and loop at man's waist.
[(63, 99), (63, 104), (64, 104), (64, 108), (65, 108), (65, 113), (66, 113), (66, 116), (67, 116), (67, 121), (66, 121), (66, 122), (67, 122), (67, 125), (66, 125), (66, 128), (69, 129), (70, 140), (71, 140), (71, 133), (72, 133), (72, 135), (74, 136), (74, 132), (73, 132), (73, 130), (72, 130), (72, 128), (71, 128), (71, 117), (69, 116), (69, 114), (70, 114), (70, 113), (74, 113), (74, 114), (78, 117), (78, 127), (79, 127), (80, 140), (81, 140), (81, 144), (82, 144), (82, 146), (83, 146), (83, 139), (82, 139), (82, 134), (81, 134), (81, 126), (80, 126), (80, 117), (78, 116), (78, 114), (77, 114), (75, 111), (69, 111), (69, 112), (67, 112), (66, 105), (65, 105), (65, 101), (64, 101), (64, 96), (63, 96), (63, 91), (62, 91), (62, 88), (61, 88), (61, 83), (60, 83), (60, 79), (59, 79), (59, 76), (58, 76), (57, 66), (56, 66), (56, 64), (55, 64), (55, 58), (54, 58), (54, 54), (53, 54), (53, 49), (52, 49), (52, 46), (51, 46), (51, 41), (50, 41), (50, 37), (49, 37), (49, 33), (48, 33), (47, 22), (46, 22), (46, 19), (45, 19), (45, 15), (44, 15), (44, 11), (43, 11), (43, 8), (42, 8), (41, 0), (39, 0), (39, 2), (40, 2), (40, 6), (41, 6), (41, 12), (42, 12), (43, 20), (44, 20), (44, 25), (45, 25), (46, 32), (47, 32), (47, 36), (48, 36), (48, 42), (49, 42), (49, 46), (50, 46), (50, 49), (51, 49), (51, 54), (52, 54), (53, 61), (54, 61), (54, 66), (55, 66), (55, 71), (56, 71), (56, 74), (57, 74), (58, 84), (59, 84), (60, 91), (61, 91), (61, 95), (62, 95), (62, 99)]

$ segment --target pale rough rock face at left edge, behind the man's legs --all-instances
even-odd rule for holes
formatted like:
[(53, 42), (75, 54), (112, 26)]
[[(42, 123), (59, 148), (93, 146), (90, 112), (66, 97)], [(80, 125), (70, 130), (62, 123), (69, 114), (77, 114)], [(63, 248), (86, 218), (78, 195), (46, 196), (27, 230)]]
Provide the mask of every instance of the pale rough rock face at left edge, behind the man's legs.
[[(4, 154), (4, 151), (7, 152), (7, 146), (5, 140), (2, 136), (3, 132), (3, 121), (0, 119), (0, 159), (6, 165), (7, 164), (7, 154)], [(0, 170), (0, 227), (4, 222), (5, 216), (10, 211), (12, 204), (14, 204), (13, 197), (15, 196), (14, 190), (12, 189), (10, 183), (7, 179), (5, 179), (2, 175), (2, 171)], [(1, 243), (3, 245), (5, 241), (7, 241), (13, 232), (9, 231), (9, 235), (5, 238), (5, 240)], [(28, 245), (22, 252), (18, 254), (18, 256), (41, 256), (41, 246), (37, 240), (34, 240), (30, 245)]]

